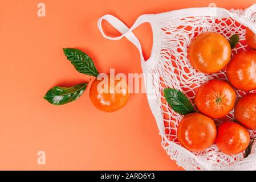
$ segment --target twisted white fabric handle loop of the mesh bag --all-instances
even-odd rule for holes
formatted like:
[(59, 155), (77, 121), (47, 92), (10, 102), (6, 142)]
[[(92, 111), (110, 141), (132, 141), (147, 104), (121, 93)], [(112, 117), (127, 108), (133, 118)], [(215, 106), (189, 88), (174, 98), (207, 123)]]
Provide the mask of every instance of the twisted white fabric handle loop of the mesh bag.
[[(107, 15), (101, 16), (101, 18), (99, 18), (99, 20), (97, 22), (97, 26), (98, 26), (101, 34), (103, 35), (103, 37), (106, 38), (106, 39), (109, 39), (109, 40), (120, 40), (121, 38), (125, 37), (129, 41), (131, 41), (137, 47), (137, 49), (139, 49), (140, 59), (141, 59), (141, 61), (144, 62), (145, 59), (143, 57), (143, 52), (142, 52), (140, 41), (137, 39), (135, 34), (133, 34), (132, 31), (135, 28), (137, 28), (138, 26), (140, 26), (141, 24), (143, 24), (143, 23), (146, 23), (146, 22), (150, 23), (149, 16), (151, 16), (151, 15), (141, 15), (141, 16), (139, 16), (139, 18), (137, 18), (137, 20), (135, 21), (133, 26), (131, 28), (128, 28), (118, 18), (116, 18), (113, 15), (107, 14)], [(116, 30), (119, 31), (121, 33), (121, 35), (120, 36), (116, 36), (116, 37), (111, 37), (111, 36), (105, 35), (105, 32), (103, 31), (103, 28), (102, 28), (102, 21), (103, 20), (106, 20), (109, 24), (111, 24), (111, 26), (116, 28)]]

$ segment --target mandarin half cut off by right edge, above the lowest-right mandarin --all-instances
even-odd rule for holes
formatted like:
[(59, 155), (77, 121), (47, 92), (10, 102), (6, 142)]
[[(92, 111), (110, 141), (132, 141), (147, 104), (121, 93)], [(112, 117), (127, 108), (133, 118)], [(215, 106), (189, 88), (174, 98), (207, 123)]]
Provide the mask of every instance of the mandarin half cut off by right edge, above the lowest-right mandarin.
[(240, 98), (235, 105), (235, 118), (249, 130), (256, 130), (256, 93)]

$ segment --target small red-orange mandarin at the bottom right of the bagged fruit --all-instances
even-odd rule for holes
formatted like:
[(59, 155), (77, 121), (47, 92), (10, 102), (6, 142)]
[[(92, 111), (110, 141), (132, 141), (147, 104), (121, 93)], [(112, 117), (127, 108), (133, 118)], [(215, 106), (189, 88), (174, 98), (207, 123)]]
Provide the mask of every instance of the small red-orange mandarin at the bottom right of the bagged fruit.
[(238, 123), (225, 122), (218, 127), (216, 144), (224, 154), (239, 154), (246, 150), (249, 143), (249, 131)]

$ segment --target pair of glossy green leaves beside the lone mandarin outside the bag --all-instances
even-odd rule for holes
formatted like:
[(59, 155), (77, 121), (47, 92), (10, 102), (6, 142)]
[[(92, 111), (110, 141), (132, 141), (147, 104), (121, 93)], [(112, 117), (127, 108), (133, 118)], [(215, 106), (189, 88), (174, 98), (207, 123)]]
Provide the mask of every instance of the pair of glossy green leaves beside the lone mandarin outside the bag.
[[(63, 48), (63, 51), (78, 72), (94, 77), (99, 75), (94, 62), (86, 53), (75, 48)], [(53, 105), (67, 104), (82, 96), (87, 85), (88, 83), (83, 83), (70, 88), (55, 86), (48, 90), (44, 99)]]

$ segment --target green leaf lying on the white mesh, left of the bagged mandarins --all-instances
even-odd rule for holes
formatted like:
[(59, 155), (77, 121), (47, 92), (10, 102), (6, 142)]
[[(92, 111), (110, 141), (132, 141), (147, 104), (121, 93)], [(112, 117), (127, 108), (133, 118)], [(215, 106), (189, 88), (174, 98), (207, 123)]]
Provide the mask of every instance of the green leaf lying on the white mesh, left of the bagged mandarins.
[(194, 112), (192, 104), (180, 91), (175, 89), (164, 89), (164, 97), (170, 107), (177, 113), (185, 115)]

